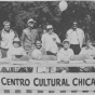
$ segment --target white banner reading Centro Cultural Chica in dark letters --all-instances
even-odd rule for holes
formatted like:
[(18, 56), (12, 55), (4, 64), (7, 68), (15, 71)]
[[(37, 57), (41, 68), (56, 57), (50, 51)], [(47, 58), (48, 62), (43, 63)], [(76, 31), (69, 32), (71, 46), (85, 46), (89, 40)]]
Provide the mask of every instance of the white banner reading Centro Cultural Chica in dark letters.
[(0, 73), (0, 90), (95, 91), (95, 73)]

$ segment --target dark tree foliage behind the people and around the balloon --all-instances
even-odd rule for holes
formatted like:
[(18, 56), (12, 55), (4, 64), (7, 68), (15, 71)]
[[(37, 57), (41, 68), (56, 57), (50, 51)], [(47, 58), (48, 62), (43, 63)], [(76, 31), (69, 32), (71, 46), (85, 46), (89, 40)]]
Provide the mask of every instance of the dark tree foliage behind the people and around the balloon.
[(0, 2), (0, 28), (3, 21), (9, 19), (21, 36), (27, 19), (32, 17), (37, 21), (36, 27), (53, 24), (55, 32), (64, 40), (66, 31), (77, 21), (86, 39), (95, 40), (95, 2), (67, 1), (68, 9), (64, 12), (60, 12), (58, 3), (59, 1)]

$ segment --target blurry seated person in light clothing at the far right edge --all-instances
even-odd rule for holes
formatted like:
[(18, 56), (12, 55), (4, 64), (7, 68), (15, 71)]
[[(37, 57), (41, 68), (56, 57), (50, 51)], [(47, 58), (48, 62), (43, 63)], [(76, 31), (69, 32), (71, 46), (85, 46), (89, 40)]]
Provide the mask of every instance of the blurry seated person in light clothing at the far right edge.
[(89, 59), (93, 59), (95, 57), (95, 48), (92, 45), (91, 41), (86, 42), (86, 46), (82, 48), (80, 55), (87, 55)]

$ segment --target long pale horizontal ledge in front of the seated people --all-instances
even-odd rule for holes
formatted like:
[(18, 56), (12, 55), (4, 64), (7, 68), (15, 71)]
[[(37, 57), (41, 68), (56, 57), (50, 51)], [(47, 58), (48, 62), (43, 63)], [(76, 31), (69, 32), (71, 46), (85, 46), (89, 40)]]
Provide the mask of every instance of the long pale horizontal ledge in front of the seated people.
[(57, 60), (30, 60), (30, 62), (0, 62), (0, 67), (95, 67), (95, 59), (86, 59), (87, 63), (83, 60), (71, 60), (69, 63), (57, 62)]

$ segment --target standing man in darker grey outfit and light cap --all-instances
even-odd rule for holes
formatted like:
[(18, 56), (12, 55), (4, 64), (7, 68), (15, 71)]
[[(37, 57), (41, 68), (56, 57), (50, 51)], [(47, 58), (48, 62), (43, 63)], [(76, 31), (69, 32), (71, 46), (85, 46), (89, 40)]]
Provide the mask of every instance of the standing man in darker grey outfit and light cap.
[(39, 39), (38, 30), (35, 29), (35, 24), (36, 24), (36, 21), (30, 18), (27, 22), (27, 28), (23, 30), (23, 33), (21, 37), (22, 45), (24, 46), (25, 51), (28, 51), (28, 52), (35, 49), (36, 40)]

